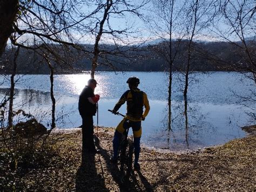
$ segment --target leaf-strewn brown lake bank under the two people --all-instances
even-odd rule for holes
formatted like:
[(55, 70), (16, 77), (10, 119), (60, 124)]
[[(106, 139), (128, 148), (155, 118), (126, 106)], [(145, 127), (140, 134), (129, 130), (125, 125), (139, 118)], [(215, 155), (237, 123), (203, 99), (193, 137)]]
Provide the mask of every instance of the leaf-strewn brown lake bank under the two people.
[[(255, 126), (254, 126), (255, 128)], [(140, 172), (132, 172), (125, 185), (119, 170), (110, 163), (113, 128), (99, 128), (100, 153), (81, 164), (82, 133), (55, 132), (37, 166), (10, 167), (4, 156), (0, 170), (1, 190), (166, 191), (255, 190), (254, 134), (225, 145), (192, 153), (159, 152), (142, 148)], [(97, 140), (97, 139), (96, 139)], [(31, 163), (32, 164), (32, 163)]]

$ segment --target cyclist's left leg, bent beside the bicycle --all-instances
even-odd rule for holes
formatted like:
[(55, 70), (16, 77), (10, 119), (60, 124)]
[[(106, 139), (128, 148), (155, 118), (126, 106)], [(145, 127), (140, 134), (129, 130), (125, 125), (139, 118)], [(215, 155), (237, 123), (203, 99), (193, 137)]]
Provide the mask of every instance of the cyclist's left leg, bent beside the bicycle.
[(116, 131), (114, 132), (114, 138), (113, 138), (113, 160), (117, 160), (118, 155), (118, 147), (120, 140), (122, 139), (122, 133), (125, 131), (126, 128), (128, 128), (128, 120), (123, 119), (117, 126)]

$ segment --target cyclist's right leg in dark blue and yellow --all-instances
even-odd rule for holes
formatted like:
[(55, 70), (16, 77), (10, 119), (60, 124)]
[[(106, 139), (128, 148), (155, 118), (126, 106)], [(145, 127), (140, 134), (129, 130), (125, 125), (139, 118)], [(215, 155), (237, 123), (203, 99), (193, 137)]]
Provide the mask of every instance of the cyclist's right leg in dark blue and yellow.
[(133, 138), (134, 138), (134, 165), (135, 165), (135, 164), (138, 164), (138, 161), (139, 161), (140, 138), (142, 136), (142, 122), (133, 121), (132, 131), (133, 131)]

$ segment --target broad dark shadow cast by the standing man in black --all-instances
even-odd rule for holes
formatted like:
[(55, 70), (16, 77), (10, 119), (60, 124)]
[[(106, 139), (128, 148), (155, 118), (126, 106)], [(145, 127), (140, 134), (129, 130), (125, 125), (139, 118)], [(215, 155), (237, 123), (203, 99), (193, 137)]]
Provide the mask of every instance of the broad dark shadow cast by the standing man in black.
[(105, 187), (104, 178), (97, 173), (95, 155), (83, 153), (82, 163), (76, 174), (76, 191), (109, 191)]

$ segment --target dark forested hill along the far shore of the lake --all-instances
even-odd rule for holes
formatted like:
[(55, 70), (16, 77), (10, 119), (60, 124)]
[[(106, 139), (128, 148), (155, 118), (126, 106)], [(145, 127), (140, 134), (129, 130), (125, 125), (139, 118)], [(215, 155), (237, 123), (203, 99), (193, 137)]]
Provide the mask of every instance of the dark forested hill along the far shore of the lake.
[[(242, 46), (241, 42), (236, 43)], [(174, 71), (184, 71), (186, 68), (187, 44), (186, 40), (172, 42), (172, 56), (176, 56), (173, 63)], [(251, 52), (256, 51), (255, 40), (248, 40), (247, 44)], [(83, 46), (89, 51), (93, 50), (93, 45)], [(62, 51), (61, 47), (57, 49), (58, 52)], [(169, 69), (167, 41), (126, 46), (116, 52), (113, 51), (113, 45), (102, 45), (100, 49), (104, 51), (100, 54), (97, 71), (167, 71)], [(1, 73), (12, 72), (14, 52), (15, 50), (6, 49), (0, 60)], [(239, 46), (228, 42), (193, 42), (191, 54), (191, 71), (239, 71), (247, 64), (246, 54)], [(79, 73), (91, 70), (91, 53), (70, 49), (69, 53), (63, 52), (60, 56), (62, 62), (53, 62), (56, 73)], [(33, 50), (21, 49), (17, 65), (17, 73), (20, 74), (49, 74), (50, 71), (42, 56)]]

